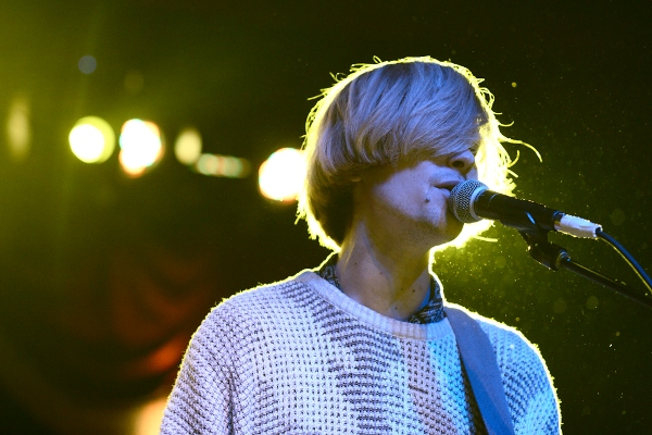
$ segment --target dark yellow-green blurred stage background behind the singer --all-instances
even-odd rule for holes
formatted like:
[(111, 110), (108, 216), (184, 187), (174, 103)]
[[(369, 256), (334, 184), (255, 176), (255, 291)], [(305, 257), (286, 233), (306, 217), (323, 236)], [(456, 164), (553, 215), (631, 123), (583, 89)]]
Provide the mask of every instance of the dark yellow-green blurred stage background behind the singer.
[[(327, 251), (263, 199), (254, 173), (209, 178), (175, 161), (136, 179), (116, 153), (87, 165), (85, 115), (156, 122), (168, 145), (247, 158), (299, 147), (310, 97), (377, 55), (432, 55), (485, 77), (507, 136), (535, 146), (517, 195), (603, 224), (652, 268), (649, 2), (199, 0), (0, 3), (0, 116), (29, 102), (32, 149), (0, 139), (0, 432), (136, 433), (209, 309)], [(84, 75), (77, 61), (98, 61)], [(142, 87), (125, 86), (140, 75)], [(516, 86), (513, 86), (516, 84)], [(448, 300), (518, 327), (554, 376), (568, 434), (652, 433), (652, 311), (529, 259), (512, 229), (439, 254)], [(640, 288), (601, 241), (573, 258)]]

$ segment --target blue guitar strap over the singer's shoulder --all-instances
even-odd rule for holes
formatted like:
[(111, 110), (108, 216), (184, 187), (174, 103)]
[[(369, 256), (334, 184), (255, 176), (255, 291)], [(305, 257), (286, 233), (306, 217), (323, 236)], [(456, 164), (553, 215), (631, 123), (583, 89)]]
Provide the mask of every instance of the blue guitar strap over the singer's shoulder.
[(496, 353), (487, 334), (464, 311), (446, 307), (460, 358), (489, 435), (514, 435)]

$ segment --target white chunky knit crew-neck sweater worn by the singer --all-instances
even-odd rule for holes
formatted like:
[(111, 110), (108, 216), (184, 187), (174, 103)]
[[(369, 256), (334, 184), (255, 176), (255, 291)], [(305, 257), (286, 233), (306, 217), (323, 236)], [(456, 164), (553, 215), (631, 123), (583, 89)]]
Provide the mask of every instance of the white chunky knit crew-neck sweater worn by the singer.
[[(537, 349), (472, 314), (493, 346), (516, 434), (560, 433)], [(414, 324), (355, 302), (313, 272), (240, 293), (197, 331), (162, 434), (474, 434), (448, 320)]]

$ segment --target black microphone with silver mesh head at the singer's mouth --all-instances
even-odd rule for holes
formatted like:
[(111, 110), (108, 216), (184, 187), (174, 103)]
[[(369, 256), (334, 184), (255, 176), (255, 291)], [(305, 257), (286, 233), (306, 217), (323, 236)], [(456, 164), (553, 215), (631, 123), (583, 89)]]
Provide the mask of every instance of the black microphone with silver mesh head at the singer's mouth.
[(555, 231), (588, 238), (597, 238), (595, 232), (602, 231), (601, 225), (585, 219), (489, 190), (477, 179), (467, 179), (453, 187), (448, 207), (465, 224), (490, 219), (518, 231)]

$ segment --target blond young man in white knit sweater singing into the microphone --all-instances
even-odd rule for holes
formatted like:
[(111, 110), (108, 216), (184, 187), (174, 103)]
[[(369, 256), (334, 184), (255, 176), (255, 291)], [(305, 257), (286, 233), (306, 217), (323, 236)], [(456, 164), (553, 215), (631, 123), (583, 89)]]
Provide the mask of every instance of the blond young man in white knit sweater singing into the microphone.
[[(324, 92), (308, 120), (299, 213), (334, 253), (211, 311), (163, 434), (485, 432), (431, 271), (432, 248), (464, 227), (447, 208), (450, 190), (472, 178), (513, 188), (501, 145), (512, 140), (478, 84), (460, 65), (409, 58), (358, 66)], [(559, 433), (539, 352), (472, 316), (491, 344), (514, 432)]]

